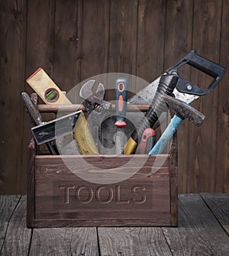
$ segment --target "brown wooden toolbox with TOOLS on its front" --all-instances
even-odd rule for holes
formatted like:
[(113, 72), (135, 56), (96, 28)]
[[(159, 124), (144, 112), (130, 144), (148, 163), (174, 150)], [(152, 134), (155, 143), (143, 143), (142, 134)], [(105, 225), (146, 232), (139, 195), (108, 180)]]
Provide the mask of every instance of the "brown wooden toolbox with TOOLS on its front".
[[(31, 134), (28, 150), (28, 227), (177, 225), (176, 135), (168, 155), (38, 155)], [(124, 178), (82, 179), (96, 172)]]

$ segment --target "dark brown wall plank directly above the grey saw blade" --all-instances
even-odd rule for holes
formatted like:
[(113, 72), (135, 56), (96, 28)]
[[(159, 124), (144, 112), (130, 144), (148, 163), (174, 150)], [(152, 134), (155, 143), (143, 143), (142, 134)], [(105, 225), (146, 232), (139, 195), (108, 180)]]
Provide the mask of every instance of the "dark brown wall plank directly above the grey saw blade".
[[(166, 1), (140, 0), (138, 5), (137, 76), (153, 81), (163, 73)], [(141, 88), (137, 88), (137, 91)]]

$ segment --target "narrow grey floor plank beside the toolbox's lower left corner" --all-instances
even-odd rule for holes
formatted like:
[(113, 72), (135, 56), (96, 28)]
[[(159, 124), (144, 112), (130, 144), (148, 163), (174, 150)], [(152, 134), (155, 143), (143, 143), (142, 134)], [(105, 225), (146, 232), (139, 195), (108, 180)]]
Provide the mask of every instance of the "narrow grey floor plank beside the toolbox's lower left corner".
[(31, 229), (26, 227), (26, 196), (21, 196), (5, 233), (2, 255), (27, 255)]

